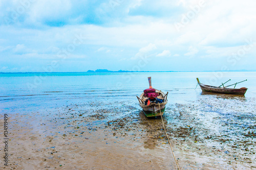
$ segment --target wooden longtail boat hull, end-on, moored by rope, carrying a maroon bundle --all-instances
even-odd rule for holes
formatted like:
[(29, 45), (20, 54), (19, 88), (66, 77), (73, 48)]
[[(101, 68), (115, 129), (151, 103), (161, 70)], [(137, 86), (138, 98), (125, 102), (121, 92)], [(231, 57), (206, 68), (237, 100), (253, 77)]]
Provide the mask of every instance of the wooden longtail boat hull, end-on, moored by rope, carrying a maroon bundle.
[[(150, 82), (150, 88), (152, 88), (151, 77), (148, 78), (148, 81)], [(155, 89), (155, 90), (156, 90), (156, 93), (158, 94), (157, 99), (163, 100), (162, 103), (156, 103), (156, 101), (155, 101), (155, 102), (150, 102), (150, 104), (147, 105), (146, 100), (148, 98), (144, 95), (144, 92), (140, 95), (139, 98), (137, 96), (139, 103), (140, 103), (140, 107), (142, 108), (144, 114), (147, 117), (160, 116), (161, 115), (160, 109), (161, 109), (161, 113), (163, 115), (163, 113), (165, 111), (165, 105), (168, 103), (168, 101), (167, 101), (168, 92), (165, 94), (161, 90), (157, 90), (157, 89)]]

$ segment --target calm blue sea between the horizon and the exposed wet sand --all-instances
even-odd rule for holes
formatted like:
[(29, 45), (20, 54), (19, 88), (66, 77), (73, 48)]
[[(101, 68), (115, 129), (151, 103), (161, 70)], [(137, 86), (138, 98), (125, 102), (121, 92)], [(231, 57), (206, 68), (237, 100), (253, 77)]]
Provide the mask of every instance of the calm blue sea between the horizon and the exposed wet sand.
[[(168, 92), (168, 103), (186, 103), (204, 95), (196, 78), (203, 84), (220, 86), (237, 84), (247, 87), (244, 99), (256, 95), (256, 72), (125, 72), (125, 73), (1, 73), (1, 112), (36, 111), (63, 103), (86, 103), (93, 100), (132, 101), (138, 105), (139, 96), (148, 88), (147, 77), (152, 77), (152, 86)], [(234, 86), (230, 86), (233, 88)], [(214, 94), (223, 96), (230, 95)], [(212, 97), (212, 95), (211, 95)], [(140, 109), (138, 107), (138, 109)]]

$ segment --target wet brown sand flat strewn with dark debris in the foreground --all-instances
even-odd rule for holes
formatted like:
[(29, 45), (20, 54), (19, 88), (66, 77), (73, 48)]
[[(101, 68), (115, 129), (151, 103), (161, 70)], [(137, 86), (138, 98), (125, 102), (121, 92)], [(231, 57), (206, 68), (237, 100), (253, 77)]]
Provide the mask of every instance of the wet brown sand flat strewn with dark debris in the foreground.
[[(166, 106), (181, 169), (256, 169), (256, 105), (244, 100), (201, 95)], [(9, 125), (5, 169), (177, 169), (161, 118), (146, 118), (135, 101), (11, 113)]]

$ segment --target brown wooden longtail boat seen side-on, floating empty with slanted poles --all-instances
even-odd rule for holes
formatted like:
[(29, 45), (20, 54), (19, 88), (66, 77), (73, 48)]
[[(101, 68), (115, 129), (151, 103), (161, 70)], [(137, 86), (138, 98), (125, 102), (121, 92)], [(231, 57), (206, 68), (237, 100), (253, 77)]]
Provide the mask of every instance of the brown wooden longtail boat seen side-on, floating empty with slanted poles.
[(226, 88), (227, 86), (226, 87), (224, 87), (224, 86), (223, 87), (209, 86), (209, 85), (205, 85), (205, 84), (200, 83), (198, 78), (197, 78), (197, 82), (200, 85), (202, 91), (206, 91), (206, 92), (244, 95), (246, 90), (247, 90), (247, 88), (245, 88), (245, 87), (242, 87), (242, 88)]

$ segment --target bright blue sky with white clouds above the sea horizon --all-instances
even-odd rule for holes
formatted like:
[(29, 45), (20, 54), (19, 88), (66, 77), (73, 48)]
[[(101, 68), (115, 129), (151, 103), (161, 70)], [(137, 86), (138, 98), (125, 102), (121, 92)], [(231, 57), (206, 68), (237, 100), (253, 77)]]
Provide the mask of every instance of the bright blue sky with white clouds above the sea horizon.
[(255, 70), (255, 6), (0, 0), (0, 72)]

